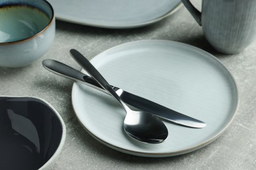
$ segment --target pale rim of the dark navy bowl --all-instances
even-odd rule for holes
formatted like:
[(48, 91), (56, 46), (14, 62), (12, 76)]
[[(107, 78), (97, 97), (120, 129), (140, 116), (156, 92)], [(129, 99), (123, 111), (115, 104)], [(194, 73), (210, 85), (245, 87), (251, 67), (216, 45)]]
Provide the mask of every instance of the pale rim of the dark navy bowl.
[(30, 98), (30, 99), (37, 99), (39, 101), (41, 101), (42, 103), (44, 103), (45, 105), (47, 105), (50, 109), (53, 110), (54, 114), (58, 117), (58, 120), (60, 120), (60, 124), (62, 127), (62, 135), (61, 135), (61, 139), (60, 139), (60, 143), (58, 144), (58, 148), (55, 150), (53, 156), (51, 156), (51, 158), (49, 160), (47, 160), (41, 167), (39, 167), (38, 170), (43, 170), (45, 168), (50, 167), (53, 163), (54, 160), (56, 160), (64, 146), (65, 140), (66, 140), (66, 125), (64, 123), (64, 120), (62, 119), (62, 117), (60, 116), (60, 114), (58, 113), (58, 111), (56, 109), (54, 109), (54, 107), (45, 99), (42, 99), (40, 97), (35, 97), (35, 96), (15, 96), (15, 95), (0, 95), (1, 97), (7, 97), (7, 98)]

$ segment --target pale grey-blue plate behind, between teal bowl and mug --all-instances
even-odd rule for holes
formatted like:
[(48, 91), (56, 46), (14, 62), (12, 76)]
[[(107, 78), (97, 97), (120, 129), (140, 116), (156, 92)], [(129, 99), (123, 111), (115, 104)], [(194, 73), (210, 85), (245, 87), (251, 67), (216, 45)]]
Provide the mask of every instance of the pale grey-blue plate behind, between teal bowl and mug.
[(107, 28), (129, 28), (157, 22), (173, 13), (180, 0), (49, 0), (59, 20)]

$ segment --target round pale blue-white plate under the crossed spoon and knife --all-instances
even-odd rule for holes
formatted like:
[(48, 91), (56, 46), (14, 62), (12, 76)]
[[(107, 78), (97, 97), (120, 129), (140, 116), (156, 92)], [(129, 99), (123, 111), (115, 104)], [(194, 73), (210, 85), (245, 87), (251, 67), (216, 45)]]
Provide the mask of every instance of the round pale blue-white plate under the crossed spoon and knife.
[(194, 46), (173, 41), (137, 41), (110, 48), (91, 62), (114, 86), (206, 122), (203, 129), (165, 125), (169, 137), (144, 144), (125, 135), (125, 111), (112, 97), (74, 83), (72, 103), (81, 124), (98, 141), (128, 154), (175, 156), (202, 148), (230, 125), (238, 89), (224, 65)]

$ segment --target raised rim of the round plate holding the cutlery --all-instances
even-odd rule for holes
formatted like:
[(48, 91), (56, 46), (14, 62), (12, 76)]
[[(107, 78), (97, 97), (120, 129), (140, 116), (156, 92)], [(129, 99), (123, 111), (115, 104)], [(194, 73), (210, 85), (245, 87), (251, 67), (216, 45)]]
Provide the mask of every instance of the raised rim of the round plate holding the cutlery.
[[(77, 117), (77, 120), (79, 121), (81, 126), (92, 137), (94, 137), (97, 141), (99, 141), (100, 143), (104, 144), (105, 146), (108, 146), (110, 148), (113, 148), (114, 150), (117, 150), (119, 152), (123, 152), (123, 153), (126, 153), (126, 154), (131, 154), (131, 155), (135, 155), (135, 156), (142, 156), (142, 157), (152, 157), (152, 158), (162, 158), (162, 157), (178, 156), (178, 155), (182, 155), (182, 154), (187, 154), (189, 152), (193, 152), (195, 150), (198, 150), (198, 149), (202, 148), (203, 146), (206, 146), (206, 145), (212, 143), (213, 141), (218, 139), (221, 135), (223, 135), (223, 133), (230, 127), (230, 125), (234, 121), (234, 118), (236, 117), (236, 114), (238, 112), (238, 107), (240, 105), (240, 92), (239, 92), (239, 89), (238, 89), (238, 84), (236, 82), (236, 79), (232, 75), (232, 73), (226, 67), (226, 65), (224, 65), (220, 59), (216, 58), (215, 56), (213, 56), (209, 52), (206, 52), (205, 50), (202, 50), (201, 48), (198, 48), (196, 46), (192, 46), (190, 44), (186, 44), (186, 43), (183, 43), (183, 42), (168, 41), (168, 40), (161, 40), (161, 39), (154, 39), (154, 40), (150, 39), (150, 40), (125, 42), (125, 43), (113, 46), (111, 48), (108, 48), (107, 50), (104, 50), (103, 52), (100, 52), (99, 54), (96, 54), (96, 56), (94, 56), (93, 58), (96, 58), (97, 56), (101, 56), (102, 54), (107, 53), (108, 51), (114, 50), (115, 48), (119, 48), (120, 46), (126, 46), (126, 45), (129, 45), (129, 44), (138, 43), (138, 42), (167, 42), (167, 43), (171, 42), (171, 43), (179, 44), (181, 46), (187, 46), (190, 49), (194, 48), (195, 50), (197, 50), (199, 52), (202, 52), (206, 56), (209, 56), (210, 58), (215, 59), (215, 61), (217, 61), (226, 70), (226, 73), (229, 74), (230, 78), (232, 78), (232, 82), (234, 83), (234, 87), (235, 87), (233, 91), (236, 92), (236, 96), (237, 96), (236, 97), (236, 107), (234, 107), (234, 111), (232, 113), (232, 117), (230, 118), (230, 120), (228, 122), (226, 122), (226, 125), (221, 129), (221, 131), (218, 131), (218, 133), (216, 133), (215, 135), (210, 137), (208, 140), (203, 141), (200, 144), (196, 144), (195, 146), (192, 146), (190, 148), (186, 148), (186, 149), (179, 150), (179, 151), (176, 151), (176, 152), (161, 152), (161, 153), (148, 153), (148, 152), (133, 151), (133, 150), (129, 150), (129, 149), (126, 149), (126, 148), (121, 148), (119, 146), (115, 146), (114, 144), (108, 143), (108, 142), (100, 139), (95, 134), (91, 133), (91, 131), (89, 131), (89, 129), (87, 129), (87, 127), (85, 127), (85, 125), (83, 125), (81, 120), (79, 120), (79, 117), (77, 116), (77, 113), (75, 112), (75, 107), (74, 107), (74, 88), (75, 88), (75, 86), (79, 86), (79, 84), (82, 84), (82, 83), (81, 82), (74, 82), (74, 84), (72, 86), (72, 107), (74, 109), (75, 116)], [(90, 61), (92, 59), (90, 59)], [(83, 71), (83, 69), (81, 69), (81, 71)]]

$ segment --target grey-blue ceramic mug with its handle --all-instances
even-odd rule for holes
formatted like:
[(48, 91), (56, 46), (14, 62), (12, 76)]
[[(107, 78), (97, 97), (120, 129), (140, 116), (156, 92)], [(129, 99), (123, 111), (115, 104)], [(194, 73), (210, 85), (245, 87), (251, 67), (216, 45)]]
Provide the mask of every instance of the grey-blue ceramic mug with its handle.
[(203, 0), (202, 12), (189, 0), (181, 1), (219, 52), (236, 54), (255, 40), (256, 0)]

